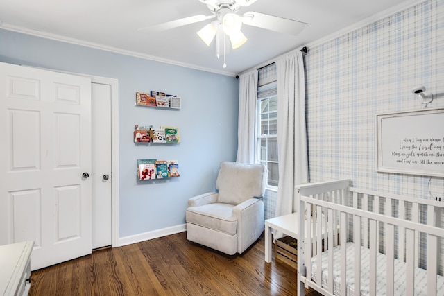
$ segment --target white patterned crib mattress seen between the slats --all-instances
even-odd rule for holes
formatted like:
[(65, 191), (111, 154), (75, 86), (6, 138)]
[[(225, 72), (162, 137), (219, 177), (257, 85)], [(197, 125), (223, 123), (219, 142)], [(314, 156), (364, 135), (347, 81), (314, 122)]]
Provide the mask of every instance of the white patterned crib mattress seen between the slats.
[[(355, 245), (354, 243), (346, 243), (347, 248), (347, 295), (355, 295)], [(341, 246), (334, 247), (333, 261), (336, 267), (333, 271), (333, 293), (340, 295), (341, 293), (341, 279), (340, 279), (340, 262)], [(327, 288), (327, 252), (322, 254), (322, 287)], [(314, 258), (311, 259), (311, 279), (318, 284), (316, 276), (317, 263)], [(405, 288), (405, 270), (406, 264), (395, 259), (395, 295), (406, 295)], [(368, 274), (370, 272), (370, 250), (366, 247), (361, 247), (361, 295), (370, 295), (370, 279)], [(377, 295), (386, 295), (386, 256), (377, 253)], [(436, 279), (437, 295), (444, 295), (444, 277), (437, 276)], [(415, 268), (415, 295), (427, 296), (427, 271), (422, 268)]]

